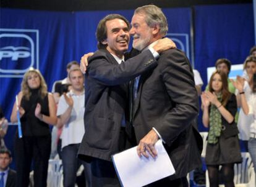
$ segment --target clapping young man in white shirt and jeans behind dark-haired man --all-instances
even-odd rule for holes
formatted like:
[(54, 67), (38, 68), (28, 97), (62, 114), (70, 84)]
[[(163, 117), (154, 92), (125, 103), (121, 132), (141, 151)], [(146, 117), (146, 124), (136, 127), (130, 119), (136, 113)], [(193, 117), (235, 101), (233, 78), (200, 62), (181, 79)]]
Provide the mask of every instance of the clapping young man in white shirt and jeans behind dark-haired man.
[(85, 90), (83, 74), (79, 68), (69, 71), (69, 81), (72, 88), (59, 99), (57, 111), (57, 116), (61, 121), (58, 127), (63, 127), (61, 156), (65, 187), (75, 186), (77, 170), (82, 164), (77, 158), (77, 152), (85, 133), (83, 125)]

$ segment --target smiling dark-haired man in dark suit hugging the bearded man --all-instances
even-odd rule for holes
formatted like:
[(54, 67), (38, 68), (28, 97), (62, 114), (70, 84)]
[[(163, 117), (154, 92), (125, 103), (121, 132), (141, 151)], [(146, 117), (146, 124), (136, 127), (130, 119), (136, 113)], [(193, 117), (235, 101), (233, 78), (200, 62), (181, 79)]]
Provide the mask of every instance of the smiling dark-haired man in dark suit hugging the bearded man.
[(173, 45), (169, 39), (162, 39), (123, 62), (130, 41), (129, 28), (126, 18), (117, 14), (100, 21), (96, 31), (99, 50), (90, 58), (85, 74), (85, 135), (78, 155), (90, 162), (92, 186), (120, 186), (111, 155), (130, 146), (126, 133), (130, 127), (125, 120), (129, 116), (129, 93), (125, 83), (155, 68), (158, 53)]

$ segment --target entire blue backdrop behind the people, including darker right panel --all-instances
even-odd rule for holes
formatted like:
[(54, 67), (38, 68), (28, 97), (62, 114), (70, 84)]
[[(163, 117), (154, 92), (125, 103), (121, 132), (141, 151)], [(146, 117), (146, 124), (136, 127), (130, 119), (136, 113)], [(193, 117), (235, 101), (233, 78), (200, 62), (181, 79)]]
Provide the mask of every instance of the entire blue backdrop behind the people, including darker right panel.
[[(53, 82), (66, 77), (66, 64), (96, 50), (95, 30), (107, 14), (121, 14), (131, 20), (133, 10), (46, 12), (1, 9), (0, 11), (0, 105), (7, 119), (23, 73), (39, 68), (48, 90)], [(194, 66), (207, 84), (207, 67), (218, 58), (242, 63), (254, 45), (252, 4), (195, 6), (163, 9), (168, 18), (168, 37), (191, 56), (190, 29), (194, 23)], [(194, 17), (192, 17), (192, 12)], [(193, 22), (192, 22), (193, 21)], [(199, 129), (202, 127), (199, 120)], [(12, 149), (14, 128), (6, 143)]]

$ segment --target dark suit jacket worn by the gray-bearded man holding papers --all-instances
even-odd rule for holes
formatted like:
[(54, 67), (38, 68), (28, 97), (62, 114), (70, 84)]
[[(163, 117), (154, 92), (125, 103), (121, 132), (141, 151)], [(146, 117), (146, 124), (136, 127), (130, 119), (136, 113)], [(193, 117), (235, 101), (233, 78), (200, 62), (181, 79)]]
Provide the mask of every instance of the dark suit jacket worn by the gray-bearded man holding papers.
[(171, 49), (158, 58), (158, 66), (140, 77), (132, 124), (139, 141), (155, 127), (165, 141), (176, 174), (185, 177), (201, 164), (202, 138), (192, 121), (198, 114), (198, 97), (189, 60)]

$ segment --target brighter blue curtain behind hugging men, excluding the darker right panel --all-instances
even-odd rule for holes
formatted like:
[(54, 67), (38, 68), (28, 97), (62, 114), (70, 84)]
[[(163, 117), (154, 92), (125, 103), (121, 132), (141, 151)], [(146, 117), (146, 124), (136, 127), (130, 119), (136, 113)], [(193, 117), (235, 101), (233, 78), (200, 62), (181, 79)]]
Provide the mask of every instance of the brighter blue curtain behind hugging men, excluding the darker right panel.
[[(163, 9), (163, 12), (168, 18), (168, 37), (190, 55), (191, 10)], [(28, 68), (38, 68), (51, 91), (54, 81), (67, 76), (68, 62), (80, 62), (83, 54), (96, 50), (95, 31), (101, 18), (121, 14), (130, 21), (134, 10), (46, 12), (1, 9), (0, 14), (0, 105), (9, 119), (15, 95), (20, 91), (23, 74)], [(15, 126), (10, 126), (5, 137), (11, 151), (15, 130)]]

